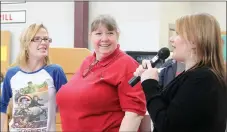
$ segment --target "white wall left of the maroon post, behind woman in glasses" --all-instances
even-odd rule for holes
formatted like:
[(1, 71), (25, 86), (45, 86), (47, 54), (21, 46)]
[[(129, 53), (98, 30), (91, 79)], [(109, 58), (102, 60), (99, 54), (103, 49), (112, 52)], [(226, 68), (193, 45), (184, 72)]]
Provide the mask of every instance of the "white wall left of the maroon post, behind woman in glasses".
[(19, 36), (31, 23), (43, 23), (53, 39), (51, 47), (74, 45), (74, 2), (26, 2), (21, 4), (1, 4), (2, 11), (26, 10), (26, 23), (1, 24), (1, 30), (12, 34), (11, 63), (19, 51)]

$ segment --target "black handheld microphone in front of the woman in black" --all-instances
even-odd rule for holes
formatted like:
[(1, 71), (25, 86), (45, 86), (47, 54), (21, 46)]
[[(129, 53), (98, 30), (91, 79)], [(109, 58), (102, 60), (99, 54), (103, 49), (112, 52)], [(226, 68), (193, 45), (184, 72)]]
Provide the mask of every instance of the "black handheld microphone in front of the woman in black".
[[(151, 66), (155, 67), (161, 60), (165, 60), (170, 55), (168, 48), (164, 47), (158, 51), (158, 54), (151, 59)], [(147, 67), (147, 66), (146, 66)], [(133, 87), (140, 81), (140, 76), (134, 76), (128, 81), (128, 83)]]

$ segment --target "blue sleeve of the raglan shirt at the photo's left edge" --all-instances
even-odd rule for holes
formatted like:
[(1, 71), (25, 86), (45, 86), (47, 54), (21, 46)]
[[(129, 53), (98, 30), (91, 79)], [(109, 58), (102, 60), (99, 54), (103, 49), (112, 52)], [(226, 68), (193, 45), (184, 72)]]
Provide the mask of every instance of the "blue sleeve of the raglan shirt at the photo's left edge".
[(1, 113), (6, 113), (7, 111), (7, 107), (9, 104), (9, 100), (12, 97), (12, 89), (11, 89), (11, 85), (10, 85), (10, 80), (11, 80), (12, 74), (11, 72), (7, 72), (6, 76), (4, 78), (3, 81), (3, 87), (2, 87), (2, 91), (1, 91), (1, 102), (0, 102), (0, 106), (1, 106)]

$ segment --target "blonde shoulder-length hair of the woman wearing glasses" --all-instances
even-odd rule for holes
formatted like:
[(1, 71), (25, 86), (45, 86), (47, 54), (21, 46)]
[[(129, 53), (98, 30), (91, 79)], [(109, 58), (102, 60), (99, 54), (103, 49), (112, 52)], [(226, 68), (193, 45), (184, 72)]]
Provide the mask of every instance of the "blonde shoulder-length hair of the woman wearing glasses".
[[(28, 47), (31, 43), (31, 40), (35, 37), (37, 32), (40, 29), (45, 29), (47, 31), (47, 28), (43, 24), (31, 24), (20, 36), (20, 52), (17, 56), (15, 65), (24, 67), (27, 65), (29, 56), (28, 56)], [(47, 31), (48, 32), (48, 31)], [(44, 64), (48, 65), (50, 64), (49, 56), (46, 56), (44, 59)]]

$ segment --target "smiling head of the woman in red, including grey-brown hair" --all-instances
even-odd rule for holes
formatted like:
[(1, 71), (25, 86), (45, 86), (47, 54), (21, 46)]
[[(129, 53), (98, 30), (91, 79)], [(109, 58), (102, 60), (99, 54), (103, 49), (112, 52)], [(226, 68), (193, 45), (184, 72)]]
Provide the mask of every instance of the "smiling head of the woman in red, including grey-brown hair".
[(95, 49), (96, 59), (100, 60), (115, 51), (118, 45), (116, 21), (107, 15), (97, 17), (91, 25), (90, 40)]

